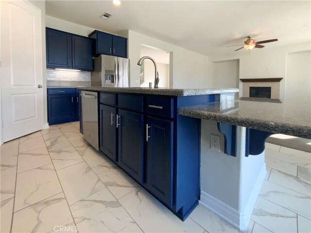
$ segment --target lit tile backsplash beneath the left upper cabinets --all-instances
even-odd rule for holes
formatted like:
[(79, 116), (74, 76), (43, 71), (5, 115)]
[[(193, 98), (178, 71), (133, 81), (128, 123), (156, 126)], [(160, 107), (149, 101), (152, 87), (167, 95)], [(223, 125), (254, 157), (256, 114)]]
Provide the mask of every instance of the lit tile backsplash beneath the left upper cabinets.
[(66, 71), (47, 68), (48, 86), (90, 86), (90, 71)]

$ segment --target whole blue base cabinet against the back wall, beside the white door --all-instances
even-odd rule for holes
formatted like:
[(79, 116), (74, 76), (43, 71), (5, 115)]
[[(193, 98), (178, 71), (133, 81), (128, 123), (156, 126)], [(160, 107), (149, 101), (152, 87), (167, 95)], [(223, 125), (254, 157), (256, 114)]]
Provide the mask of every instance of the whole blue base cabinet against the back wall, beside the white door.
[(49, 125), (77, 121), (80, 118), (79, 90), (76, 88), (48, 88)]

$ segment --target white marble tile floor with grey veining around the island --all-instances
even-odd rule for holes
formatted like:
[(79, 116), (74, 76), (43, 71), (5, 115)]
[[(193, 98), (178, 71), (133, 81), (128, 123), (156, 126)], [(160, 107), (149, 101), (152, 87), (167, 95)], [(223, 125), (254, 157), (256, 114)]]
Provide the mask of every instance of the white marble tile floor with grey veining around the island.
[[(182, 222), (94, 150), (79, 123), (0, 147), (0, 232), (237, 233), (199, 205)], [(311, 232), (311, 154), (266, 144), (267, 175), (245, 233)]]

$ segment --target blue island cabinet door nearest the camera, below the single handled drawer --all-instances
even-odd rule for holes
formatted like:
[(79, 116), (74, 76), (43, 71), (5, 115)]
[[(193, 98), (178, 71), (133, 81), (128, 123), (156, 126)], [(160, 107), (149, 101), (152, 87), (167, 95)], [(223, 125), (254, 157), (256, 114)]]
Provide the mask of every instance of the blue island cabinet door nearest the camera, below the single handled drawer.
[(148, 116), (147, 124), (147, 187), (172, 207), (173, 122)]

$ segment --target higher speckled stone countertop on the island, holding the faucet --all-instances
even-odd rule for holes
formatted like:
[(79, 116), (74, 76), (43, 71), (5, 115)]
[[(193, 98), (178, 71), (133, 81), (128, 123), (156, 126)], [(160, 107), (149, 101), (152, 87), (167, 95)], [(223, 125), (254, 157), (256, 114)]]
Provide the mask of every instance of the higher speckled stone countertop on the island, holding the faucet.
[(199, 96), (210, 94), (239, 92), (237, 88), (205, 88), (205, 89), (175, 89), (175, 88), (145, 88), (145, 87), (101, 87), (101, 86), (78, 86), (78, 89), (87, 91), (108, 91), (136, 94), (152, 94), (165, 96)]

